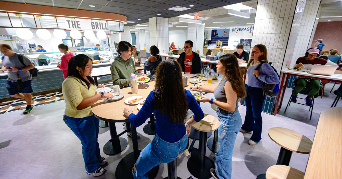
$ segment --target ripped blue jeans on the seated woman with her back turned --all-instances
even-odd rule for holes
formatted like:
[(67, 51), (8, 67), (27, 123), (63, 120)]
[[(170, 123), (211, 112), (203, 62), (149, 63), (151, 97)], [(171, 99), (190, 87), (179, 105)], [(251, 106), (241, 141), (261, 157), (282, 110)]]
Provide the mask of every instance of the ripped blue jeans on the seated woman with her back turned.
[(135, 169), (132, 174), (135, 179), (148, 179), (147, 172), (153, 167), (174, 161), (178, 154), (184, 152), (188, 144), (188, 135), (175, 142), (169, 143), (162, 140), (156, 134), (156, 137), (140, 153), (135, 163)]

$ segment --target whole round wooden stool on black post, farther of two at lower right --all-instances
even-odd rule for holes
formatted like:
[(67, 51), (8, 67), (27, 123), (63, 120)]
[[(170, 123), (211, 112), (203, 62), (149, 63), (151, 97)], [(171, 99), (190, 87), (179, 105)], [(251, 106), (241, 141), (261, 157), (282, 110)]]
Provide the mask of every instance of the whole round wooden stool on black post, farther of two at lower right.
[(312, 141), (304, 135), (286, 128), (271, 128), (268, 130), (268, 136), (280, 148), (277, 165), (289, 165), (292, 152), (310, 153)]

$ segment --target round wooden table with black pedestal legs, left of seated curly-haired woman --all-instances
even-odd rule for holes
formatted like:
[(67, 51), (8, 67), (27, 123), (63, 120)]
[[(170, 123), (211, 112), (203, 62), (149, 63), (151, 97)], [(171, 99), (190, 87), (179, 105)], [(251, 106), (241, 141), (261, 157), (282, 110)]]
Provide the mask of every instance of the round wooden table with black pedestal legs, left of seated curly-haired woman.
[[(135, 161), (139, 157), (139, 147), (138, 147), (138, 139), (136, 137), (136, 128), (129, 122), (126, 115), (123, 114), (123, 109), (127, 106), (127, 104), (124, 103), (124, 100), (131, 97), (131, 96), (143, 96), (144, 98), (147, 98), (150, 91), (154, 89), (154, 81), (150, 81), (147, 83), (148, 85), (144, 85), (147, 88), (139, 88), (139, 92), (137, 94), (132, 94), (131, 88), (123, 88), (120, 89), (121, 93), (124, 93), (124, 97), (121, 100), (118, 101), (107, 101), (107, 100), (99, 100), (95, 104), (92, 105), (91, 110), (94, 113), (95, 117), (104, 121), (109, 122), (109, 130), (111, 134), (111, 139), (107, 142), (105, 147), (110, 146), (118, 152), (119, 150), (123, 151), (122, 147), (119, 147), (122, 145), (121, 138), (119, 139), (119, 136), (124, 134), (125, 132), (129, 132), (129, 128), (132, 132), (132, 143), (133, 143), (133, 152), (127, 154), (124, 156), (121, 161), (118, 163), (115, 171), (115, 178), (117, 179), (133, 179), (132, 175), (132, 169), (135, 164)], [(130, 105), (133, 113), (137, 114), (138, 109), (136, 108), (137, 105)], [(115, 122), (126, 122), (127, 130), (123, 131), (119, 135), (116, 134), (116, 128), (115, 128)], [(113, 133), (113, 136), (112, 136)], [(124, 139), (126, 140), (126, 139)], [(109, 142), (112, 142), (108, 144)], [(127, 142), (127, 140), (126, 140)], [(127, 144), (126, 144), (127, 146)], [(109, 147), (109, 148), (110, 148)], [(125, 147), (126, 148), (126, 147)], [(108, 150), (108, 149), (106, 149)], [(119, 152), (121, 152), (119, 151)], [(119, 153), (118, 152), (118, 153)], [(157, 176), (159, 170), (159, 165), (152, 168), (150, 171), (147, 172), (149, 178), (155, 178)]]

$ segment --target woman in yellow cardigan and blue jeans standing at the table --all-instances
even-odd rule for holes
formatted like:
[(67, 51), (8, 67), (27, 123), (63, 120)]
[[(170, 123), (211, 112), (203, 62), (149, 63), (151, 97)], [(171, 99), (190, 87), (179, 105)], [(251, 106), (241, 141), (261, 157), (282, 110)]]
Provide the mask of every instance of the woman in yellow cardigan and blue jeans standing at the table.
[(107, 161), (101, 157), (97, 142), (99, 120), (95, 118), (90, 108), (101, 98), (113, 98), (113, 95), (97, 94), (96, 89), (104, 86), (96, 86), (90, 76), (92, 64), (91, 58), (83, 54), (70, 59), (67, 78), (62, 84), (65, 99), (63, 120), (81, 140), (86, 173), (96, 177), (104, 173), (100, 165)]

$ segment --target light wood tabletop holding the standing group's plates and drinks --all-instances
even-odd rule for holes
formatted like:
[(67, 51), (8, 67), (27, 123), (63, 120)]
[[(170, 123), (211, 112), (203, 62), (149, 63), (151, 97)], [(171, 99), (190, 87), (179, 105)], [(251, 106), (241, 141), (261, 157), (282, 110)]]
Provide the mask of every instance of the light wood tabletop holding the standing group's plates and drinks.
[[(215, 86), (219, 82), (220, 80), (213, 80), (212, 84), (208, 84), (208, 80), (203, 81), (203, 83), (205, 84), (204, 86), (209, 86), (209, 87)], [(123, 109), (127, 106), (127, 104), (124, 103), (124, 100), (131, 96), (143, 96), (144, 98), (147, 98), (150, 91), (154, 89), (155, 82), (150, 81), (146, 83), (145, 85), (147, 89), (145, 89), (141, 85), (138, 86), (139, 92), (137, 94), (132, 94), (130, 87), (120, 89), (120, 92), (125, 94), (121, 100), (107, 101), (105, 99), (101, 99), (92, 105), (91, 110), (97, 118), (102, 119), (104, 121), (126, 122), (127, 117), (126, 115), (123, 115)], [(187, 90), (190, 89), (190, 86), (194, 86), (194, 84), (190, 83), (189, 81), (188, 81), (188, 85), (189, 86), (185, 87), (185, 89)], [(130, 106), (133, 110), (133, 113), (137, 114), (138, 113), (138, 109), (136, 108), (137, 105), (130, 105)]]

